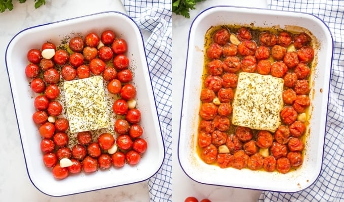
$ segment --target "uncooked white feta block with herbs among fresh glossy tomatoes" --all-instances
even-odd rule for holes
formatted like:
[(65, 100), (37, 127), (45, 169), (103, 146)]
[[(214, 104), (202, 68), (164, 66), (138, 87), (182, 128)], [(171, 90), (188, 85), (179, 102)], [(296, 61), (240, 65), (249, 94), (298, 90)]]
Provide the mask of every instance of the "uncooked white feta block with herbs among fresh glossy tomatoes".
[(63, 88), (71, 133), (110, 126), (101, 76), (65, 81)]

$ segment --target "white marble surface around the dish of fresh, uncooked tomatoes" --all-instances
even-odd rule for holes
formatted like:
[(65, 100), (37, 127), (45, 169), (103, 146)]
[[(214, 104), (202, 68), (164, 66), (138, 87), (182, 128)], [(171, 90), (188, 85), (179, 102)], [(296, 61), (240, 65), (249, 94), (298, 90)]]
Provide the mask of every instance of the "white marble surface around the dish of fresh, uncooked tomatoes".
[[(63, 197), (51, 197), (30, 182), (24, 163), (18, 127), (5, 65), (5, 51), (12, 37), (22, 29), (104, 11), (122, 11), (120, 0), (46, 0), (34, 9), (34, 1), (13, 1), (14, 10), (0, 13), (0, 201), (149, 201), (147, 182)], [(147, 36), (149, 33), (145, 33)]]

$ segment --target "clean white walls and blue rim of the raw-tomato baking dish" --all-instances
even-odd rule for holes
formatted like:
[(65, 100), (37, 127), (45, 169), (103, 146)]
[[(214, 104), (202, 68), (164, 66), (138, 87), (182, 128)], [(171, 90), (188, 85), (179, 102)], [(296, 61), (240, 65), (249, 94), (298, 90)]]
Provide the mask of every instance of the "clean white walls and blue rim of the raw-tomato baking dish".
[[(118, 37), (128, 42), (126, 55), (134, 71), (137, 107), (141, 110), (142, 116), (140, 125), (144, 129), (142, 137), (147, 141), (148, 148), (136, 166), (99, 169), (92, 174), (81, 172), (64, 180), (56, 180), (51, 170), (44, 166), (39, 147), (40, 135), (31, 118), (35, 111), (32, 98), (35, 95), (25, 76), (24, 70), (28, 64), (26, 54), (31, 48), (39, 49), (41, 44), (48, 40), (58, 46), (66, 36), (84, 36), (91, 31), (100, 34), (106, 29), (114, 30)], [(21, 138), (18, 144), (21, 143), (23, 147), (29, 178), (41, 192), (62, 196), (115, 187), (147, 180), (159, 170), (164, 159), (164, 145), (143, 37), (130, 17), (119, 12), (104, 12), (30, 27), (16, 34), (10, 41), (6, 49), (6, 64)]]

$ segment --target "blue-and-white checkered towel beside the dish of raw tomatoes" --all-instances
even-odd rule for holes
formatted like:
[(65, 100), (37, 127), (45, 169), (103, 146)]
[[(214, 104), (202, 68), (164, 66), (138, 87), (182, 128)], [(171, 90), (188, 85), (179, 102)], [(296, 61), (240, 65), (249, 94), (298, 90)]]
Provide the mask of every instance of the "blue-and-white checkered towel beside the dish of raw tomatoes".
[(165, 159), (161, 169), (148, 180), (150, 200), (171, 201), (172, 170), (172, 13), (170, 0), (121, 0), (128, 15), (141, 29), (151, 31), (146, 41), (146, 54), (161, 132), (165, 144)]

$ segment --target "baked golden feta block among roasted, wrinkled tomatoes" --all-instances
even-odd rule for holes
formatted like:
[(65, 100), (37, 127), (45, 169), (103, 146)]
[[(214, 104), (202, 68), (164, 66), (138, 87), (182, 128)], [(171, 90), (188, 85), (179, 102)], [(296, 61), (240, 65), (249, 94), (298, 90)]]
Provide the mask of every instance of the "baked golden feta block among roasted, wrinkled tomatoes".
[(232, 124), (274, 132), (283, 108), (282, 78), (241, 72), (233, 99)]

